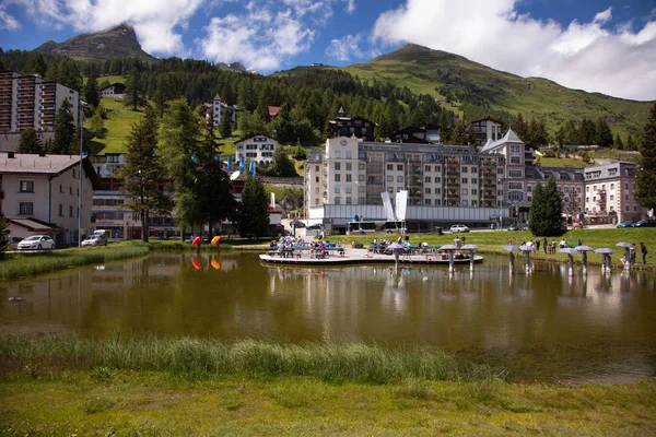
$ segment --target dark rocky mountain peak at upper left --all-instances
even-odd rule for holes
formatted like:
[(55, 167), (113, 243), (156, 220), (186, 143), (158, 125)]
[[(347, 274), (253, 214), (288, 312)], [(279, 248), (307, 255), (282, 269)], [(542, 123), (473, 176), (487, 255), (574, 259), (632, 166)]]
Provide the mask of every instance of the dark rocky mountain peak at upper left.
[(68, 56), (82, 61), (103, 61), (114, 58), (154, 59), (141, 49), (134, 28), (129, 24), (73, 36), (63, 43), (47, 42), (35, 49), (44, 54)]

